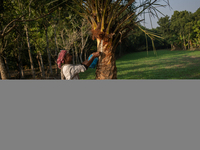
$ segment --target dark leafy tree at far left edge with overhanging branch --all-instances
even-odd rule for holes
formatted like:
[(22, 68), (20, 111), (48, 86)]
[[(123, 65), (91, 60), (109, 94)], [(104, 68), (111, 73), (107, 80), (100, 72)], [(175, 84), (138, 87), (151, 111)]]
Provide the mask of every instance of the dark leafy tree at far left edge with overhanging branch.
[[(13, 30), (17, 30), (17, 26), (19, 23), (21, 22), (30, 22), (30, 21), (36, 21), (40, 18), (46, 17), (49, 14), (51, 14), (52, 12), (55, 11), (55, 9), (58, 7), (57, 5), (54, 5), (54, 1), (52, 0), (52, 3), (49, 4), (49, 2), (51, 2), (51, 0), (46, 0), (46, 1), (42, 1), (40, 2), (41, 7), (43, 7), (44, 5), (49, 5), (49, 8), (51, 8), (49, 10), (49, 12), (47, 14), (44, 14), (42, 16), (37, 16), (37, 15), (31, 15), (30, 17), (30, 13), (32, 14), (32, 10), (30, 11), (30, 9), (33, 6), (36, 6), (39, 1), (34, 1), (30, 0), (18, 0), (18, 1), (13, 1), (13, 0), (2, 0), (1, 1), (1, 9), (0, 9), (0, 73), (1, 73), (1, 78), (2, 79), (8, 79), (8, 75), (7, 75), (7, 70), (5, 67), (5, 61), (4, 58), (6, 58), (4, 56), (5, 51), (6, 51), (6, 37), (12, 33)], [(61, 5), (62, 3), (60, 3), (59, 5)], [(20, 6), (21, 5), (21, 6)], [(23, 6), (23, 7), (22, 7)], [(24, 19), (25, 18), (25, 19)], [(28, 18), (28, 19), (26, 19)], [(25, 25), (25, 30), (27, 31), (26, 33), (28, 33), (28, 27)], [(28, 36), (28, 34), (27, 34)], [(27, 39), (28, 40), (28, 39)]]

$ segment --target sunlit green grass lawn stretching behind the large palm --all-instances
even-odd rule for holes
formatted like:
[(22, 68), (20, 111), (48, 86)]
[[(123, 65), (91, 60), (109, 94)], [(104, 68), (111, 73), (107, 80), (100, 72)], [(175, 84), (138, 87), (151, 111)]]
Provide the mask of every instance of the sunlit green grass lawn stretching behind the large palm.
[[(200, 51), (157, 50), (135, 52), (116, 61), (118, 79), (200, 79)], [(82, 80), (94, 80), (95, 70), (80, 73)]]

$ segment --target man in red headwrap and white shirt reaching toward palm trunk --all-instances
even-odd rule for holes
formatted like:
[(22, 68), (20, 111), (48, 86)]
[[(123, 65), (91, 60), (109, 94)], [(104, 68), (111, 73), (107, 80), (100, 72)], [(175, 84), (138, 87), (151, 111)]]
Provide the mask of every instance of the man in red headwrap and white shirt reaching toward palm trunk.
[(93, 56), (89, 61), (86, 60), (81, 64), (73, 65), (72, 64), (73, 56), (67, 53), (66, 50), (61, 50), (61, 52), (58, 54), (58, 59), (57, 59), (58, 68), (61, 69), (61, 79), (64, 80), (65, 78), (66, 80), (79, 80), (79, 73), (85, 72), (91, 65), (93, 60), (96, 57), (100, 56), (100, 52), (92, 53), (92, 55)]

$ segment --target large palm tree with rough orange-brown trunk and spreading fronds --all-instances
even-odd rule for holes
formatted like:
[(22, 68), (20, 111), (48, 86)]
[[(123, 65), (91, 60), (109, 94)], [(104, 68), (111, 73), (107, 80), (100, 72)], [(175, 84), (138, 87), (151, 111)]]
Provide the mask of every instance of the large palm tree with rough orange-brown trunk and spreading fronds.
[[(165, 1), (165, 0), (163, 0)], [(93, 40), (97, 40), (97, 51), (102, 52), (96, 68), (96, 79), (117, 79), (115, 50), (124, 38), (140, 27), (138, 16), (146, 10), (157, 15), (155, 6), (164, 6), (157, 0), (73, 0), (77, 7), (74, 11), (85, 17), (92, 27)], [(168, 3), (168, 0), (165, 1)], [(169, 3), (168, 3), (169, 4)], [(141, 28), (141, 30), (143, 30)], [(143, 30), (150, 38), (152, 33)]]

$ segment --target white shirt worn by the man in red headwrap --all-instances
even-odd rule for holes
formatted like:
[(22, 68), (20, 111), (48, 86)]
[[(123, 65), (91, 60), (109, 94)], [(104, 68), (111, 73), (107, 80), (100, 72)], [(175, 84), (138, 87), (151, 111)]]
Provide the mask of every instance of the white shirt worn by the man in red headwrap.
[(86, 68), (84, 65), (78, 64), (65, 64), (63, 66), (63, 74), (66, 78), (66, 80), (79, 80), (78, 74), (80, 72), (85, 72)]

